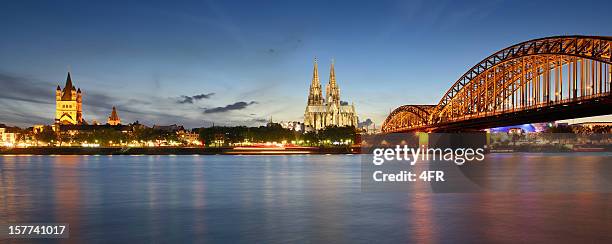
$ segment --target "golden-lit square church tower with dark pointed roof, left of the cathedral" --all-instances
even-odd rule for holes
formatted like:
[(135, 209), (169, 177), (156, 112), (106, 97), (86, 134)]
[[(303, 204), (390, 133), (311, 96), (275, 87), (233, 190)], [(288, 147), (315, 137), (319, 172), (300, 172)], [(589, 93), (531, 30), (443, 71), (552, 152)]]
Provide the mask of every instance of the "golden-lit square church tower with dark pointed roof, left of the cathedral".
[(64, 125), (83, 124), (83, 96), (81, 89), (72, 84), (70, 72), (66, 77), (66, 85), (62, 90), (55, 90), (55, 123)]

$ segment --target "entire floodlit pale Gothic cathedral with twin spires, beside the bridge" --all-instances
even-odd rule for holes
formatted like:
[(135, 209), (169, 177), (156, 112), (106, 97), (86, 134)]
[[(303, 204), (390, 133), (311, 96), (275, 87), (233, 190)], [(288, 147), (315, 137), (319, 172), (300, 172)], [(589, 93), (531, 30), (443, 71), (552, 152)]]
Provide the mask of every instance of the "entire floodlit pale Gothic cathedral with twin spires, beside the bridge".
[(340, 100), (340, 88), (336, 83), (333, 61), (329, 71), (329, 82), (325, 87), (325, 98), (323, 98), (322, 93), (317, 60), (315, 59), (312, 82), (308, 94), (308, 105), (304, 112), (304, 125), (306, 127), (314, 130), (320, 130), (328, 126), (357, 127), (355, 105), (349, 105)]

